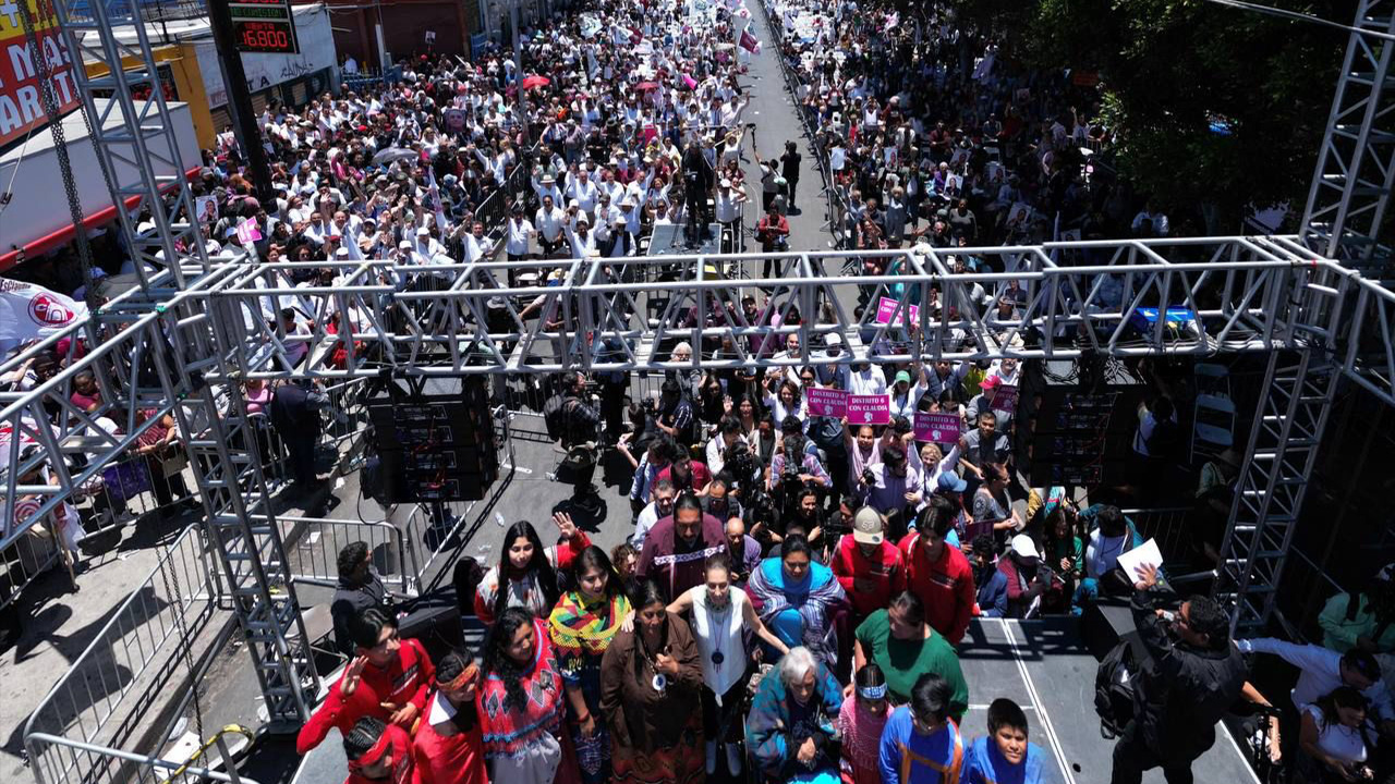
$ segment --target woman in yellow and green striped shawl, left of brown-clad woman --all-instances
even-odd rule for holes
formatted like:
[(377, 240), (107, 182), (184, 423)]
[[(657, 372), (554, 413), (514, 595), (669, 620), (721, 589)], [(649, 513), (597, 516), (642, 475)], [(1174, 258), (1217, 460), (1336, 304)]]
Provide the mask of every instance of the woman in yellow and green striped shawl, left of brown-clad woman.
[(622, 582), (600, 547), (583, 550), (573, 568), (576, 590), (558, 600), (548, 632), (566, 684), (582, 783), (601, 784), (611, 773), (610, 732), (600, 713), (601, 657), (631, 610)]

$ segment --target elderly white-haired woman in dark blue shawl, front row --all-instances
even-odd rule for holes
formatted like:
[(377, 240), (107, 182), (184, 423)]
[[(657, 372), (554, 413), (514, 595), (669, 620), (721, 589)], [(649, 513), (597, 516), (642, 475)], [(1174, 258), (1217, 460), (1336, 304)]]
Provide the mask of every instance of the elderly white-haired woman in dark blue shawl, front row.
[(838, 783), (837, 723), (843, 692), (833, 672), (804, 646), (762, 681), (746, 717), (746, 745), (767, 777)]

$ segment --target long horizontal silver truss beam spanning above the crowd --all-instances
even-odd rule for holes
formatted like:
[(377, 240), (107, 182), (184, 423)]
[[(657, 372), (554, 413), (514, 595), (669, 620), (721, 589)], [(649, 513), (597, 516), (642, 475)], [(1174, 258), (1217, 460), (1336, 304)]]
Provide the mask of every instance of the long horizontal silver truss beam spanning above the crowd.
[[(1244, 237), (1119, 243), (1059, 243), (972, 248), (1006, 272), (954, 273), (951, 254), (776, 254), (769, 279), (744, 273), (764, 257), (646, 257), (626, 261), (483, 262), (393, 266), (385, 261), (332, 265), (331, 286), (292, 286), (297, 268), (246, 268), (209, 293), (209, 310), (275, 361), (254, 377), (342, 378), (405, 374), (551, 372), (566, 368), (668, 370), (670, 339), (707, 345), (695, 367), (798, 364), (755, 350), (764, 339), (798, 333), (805, 346), (838, 335), (851, 354), (833, 361), (1016, 356), (1076, 357), (1268, 350), (1289, 345), (1293, 324), (1285, 292), (1296, 264)], [(843, 276), (845, 261), (891, 259), (900, 275)], [(508, 287), (505, 268), (555, 269), (547, 287)], [(985, 304), (1009, 280), (1025, 304), (1000, 315)], [(753, 322), (737, 306), (752, 296), (780, 314)], [(869, 303), (858, 308), (854, 303)], [(894, 303), (880, 324), (879, 303)], [(944, 307), (917, 307), (942, 303)], [(271, 321), (279, 308), (308, 317), (308, 332)], [(1197, 314), (1179, 328), (1163, 319), (1138, 328), (1138, 308)], [(798, 310), (799, 324), (788, 318)], [(706, 314), (695, 319), (693, 314)], [(908, 325), (903, 317), (910, 314)], [(912, 338), (912, 332), (919, 339)], [(342, 336), (352, 335), (352, 340)], [(716, 350), (724, 345), (725, 349)], [(308, 359), (292, 370), (300, 353)], [(336, 357), (338, 350), (338, 357)]]

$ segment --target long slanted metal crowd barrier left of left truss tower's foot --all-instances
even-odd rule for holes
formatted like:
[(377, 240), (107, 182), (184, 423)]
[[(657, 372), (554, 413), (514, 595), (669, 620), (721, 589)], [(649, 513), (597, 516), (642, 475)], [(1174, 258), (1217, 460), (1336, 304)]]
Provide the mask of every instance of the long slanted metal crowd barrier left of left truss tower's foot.
[(215, 569), (191, 526), (117, 607), (25, 723), (24, 745), (39, 784), (120, 780), (114, 774), (128, 762), (152, 759), (114, 746), (148, 730), (146, 713), (165, 704), (160, 696), (183, 671), (179, 661), (208, 653), (194, 646), (222, 612)]

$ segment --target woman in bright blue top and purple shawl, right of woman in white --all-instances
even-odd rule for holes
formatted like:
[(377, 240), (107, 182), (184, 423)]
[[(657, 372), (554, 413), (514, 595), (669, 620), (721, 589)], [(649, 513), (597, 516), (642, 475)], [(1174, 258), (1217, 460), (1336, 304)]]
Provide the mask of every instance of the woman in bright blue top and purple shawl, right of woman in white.
[(847, 594), (833, 571), (813, 561), (802, 536), (787, 536), (780, 543), (780, 555), (760, 562), (751, 573), (746, 593), (780, 642), (805, 646), (827, 667), (836, 665), (836, 621), (847, 610)]

